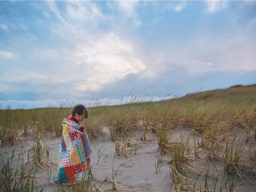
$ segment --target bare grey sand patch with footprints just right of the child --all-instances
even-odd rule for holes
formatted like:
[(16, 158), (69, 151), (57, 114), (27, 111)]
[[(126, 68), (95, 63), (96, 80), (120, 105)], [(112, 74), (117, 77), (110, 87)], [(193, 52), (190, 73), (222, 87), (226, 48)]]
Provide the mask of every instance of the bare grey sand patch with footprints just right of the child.
[[(157, 141), (156, 139), (154, 140), (152, 134), (147, 136), (148, 139), (146, 141), (141, 141), (138, 133), (133, 135), (131, 145), (127, 148), (127, 158), (125, 158), (124, 152), (120, 156), (116, 155), (114, 144), (110, 138), (105, 141), (97, 140), (92, 142), (92, 149), (95, 151), (92, 157), (92, 167), (95, 170), (93, 178), (96, 181), (103, 180), (106, 177), (111, 178), (114, 161), (114, 170), (118, 169), (115, 181), (122, 187), (132, 191), (171, 191), (170, 167), (168, 164), (163, 164), (160, 171), (155, 172), (159, 149)], [(135, 155), (133, 144), (136, 143), (136, 140), (140, 147)], [(97, 163), (97, 151), (99, 148), (105, 149), (105, 151), (99, 163)], [(103, 185), (107, 184), (104, 183)], [(110, 185), (108, 184), (107, 186)]]

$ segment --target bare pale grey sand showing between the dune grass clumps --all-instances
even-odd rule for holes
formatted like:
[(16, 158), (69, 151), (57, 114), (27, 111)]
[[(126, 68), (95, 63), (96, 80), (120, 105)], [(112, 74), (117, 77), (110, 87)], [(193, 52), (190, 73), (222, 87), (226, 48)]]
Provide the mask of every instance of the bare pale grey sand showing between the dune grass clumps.
[[(175, 132), (174, 136), (178, 138), (180, 134), (186, 135), (189, 134), (190, 131), (191, 129), (180, 127), (180, 129)], [(49, 164), (44, 165), (36, 174), (37, 185), (39, 186), (38, 189), (40, 190), (42, 188), (40, 186), (44, 186), (43, 191), (58, 191), (57, 186), (49, 183), (49, 178), (58, 174), (58, 150), (60, 137), (56, 138), (52, 136), (45, 136), (44, 138), (41, 138), (41, 140), (49, 149), (50, 156)], [(135, 155), (134, 144), (136, 141), (139, 148)], [(160, 171), (156, 173), (155, 164), (157, 162), (157, 156), (159, 155), (159, 149), (155, 135), (152, 132), (147, 133), (147, 140), (140, 140), (140, 132), (139, 130), (135, 130), (132, 134), (131, 144), (126, 149), (127, 157), (125, 157), (124, 151), (119, 156), (116, 154), (114, 144), (111, 141), (107, 127), (104, 128), (104, 136), (102, 138), (91, 138), (90, 142), (93, 150), (91, 158), (93, 182), (100, 186), (102, 191), (112, 190), (112, 183), (105, 179), (111, 178), (113, 170), (115, 172), (117, 171), (114, 180), (119, 185), (118, 189), (120, 191), (172, 191), (170, 165), (166, 158), (163, 158)], [(33, 138), (29, 136), (27, 138), (23, 138), (18, 145), (2, 146), (0, 153), (3, 159), (6, 159), (8, 156), (11, 156), (12, 149), (17, 148), (18, 150), (15, 150), (15, 154), (19, 151), (26, 156), (27, 153), (31, 152), (32, 145)], [(100, 158), (98, 156), (99, 149), (101, 152), (104, 150)], [(202, 158), (197, 160), (198, 163), (196, 163), (196, 161), (194, 163), (201, 164), (203, 162), (205, 163), (205, 166), (207, 166), (207, 161), (204, 160), (204, 154), (201, 153), (201, 155)], [(216, 164), (221, 168), (221, 161), (216, 161)], [(0, 168), (2, 166), (3, 165), (0, 162)], [(15, 167), (15, 163), (12, 164), (12, 167)], [(47, 172), (48, 168), (52, 170), (51, 175)], [(201, 170), (196, 171), (197, 173), (201, 172)], [(202, 182), (204, 182), (204, 180)], [(66, 187), (59, 189), (59, 191), (62, 190), (67, 191), (70, 190), (70, 188)], [(255, 190), (256, 187), (254, 184), (252, 185), (252, 188), (241, 189), (239, 191)]]

